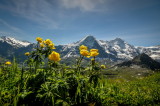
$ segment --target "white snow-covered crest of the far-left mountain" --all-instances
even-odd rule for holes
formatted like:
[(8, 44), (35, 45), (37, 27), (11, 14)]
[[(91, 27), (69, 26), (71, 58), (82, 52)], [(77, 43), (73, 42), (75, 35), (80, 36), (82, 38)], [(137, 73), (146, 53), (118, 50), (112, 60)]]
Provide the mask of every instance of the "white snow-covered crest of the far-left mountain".
[(16, 40), (15, 38), (12, 37), (7, 37), (7, 36), (1, 36), (0, 37), (0, 41), (1, 42), (6, 42), (14, 47), (27, 47), (29, 46), (31, 43), (28, 41), (20, 41), (20, 40)]

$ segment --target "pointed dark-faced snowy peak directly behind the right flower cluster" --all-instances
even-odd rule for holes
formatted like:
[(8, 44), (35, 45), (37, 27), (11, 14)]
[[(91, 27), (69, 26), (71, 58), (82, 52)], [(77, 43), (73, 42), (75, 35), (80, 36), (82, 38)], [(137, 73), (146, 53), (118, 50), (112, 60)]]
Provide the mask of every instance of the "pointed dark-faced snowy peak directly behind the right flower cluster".
[(112, 57), (113, 59), (115, 58), (112, 54), (106, 53), (104, 47), (101, 46), (100, 42), (90, 35), (86, 36), (85, 38), (76, 43), (65, 45), (61, 51), (61, 53), (64, 54), (63, 58), (79, 56), (79, 46), (81, 45), (85, 45), (89, 49), (91, 48), (98, 49), (100, 52), (98, 56), (99, 58), (108, 58), (108, 57)]

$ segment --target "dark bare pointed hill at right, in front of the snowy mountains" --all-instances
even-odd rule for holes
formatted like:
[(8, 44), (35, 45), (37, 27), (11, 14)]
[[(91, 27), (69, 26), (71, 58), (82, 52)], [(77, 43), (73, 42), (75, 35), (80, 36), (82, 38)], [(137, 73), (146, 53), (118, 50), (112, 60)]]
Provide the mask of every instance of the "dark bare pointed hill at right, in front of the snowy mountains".
[(160, 69), (160, 63), (153, 60), (151, 57), (149, 57), (147, 54), (142, 53), (135, 58), (133, 58), (130, 61), (123, 62), (121, 64), (118, 64), (117, 66), (123, 67), (141, 67), (141, 68), (149, 68), (151, 70), (158, 70)]

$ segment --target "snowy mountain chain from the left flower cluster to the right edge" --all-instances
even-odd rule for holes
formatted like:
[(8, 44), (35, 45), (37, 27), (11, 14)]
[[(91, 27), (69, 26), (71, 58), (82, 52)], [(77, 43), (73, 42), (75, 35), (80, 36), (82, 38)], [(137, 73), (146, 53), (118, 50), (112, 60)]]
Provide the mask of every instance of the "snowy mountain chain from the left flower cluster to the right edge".
[[(97, 40), (89, 35), (80, 41), (68, 45), (61, 45), (60, 52), (63, 58), (79, 56), (79, 46), (85, 45), (89, 49), (98, 49), (100, 55), (98, 58), (108, 58), (112, 61), (131, 60), (135, 56), (146, 53), (155, 60), (160, 60), (160, 46), (152, 47), (135, 47), (125, 42), (121, 38), (116, 38), (111, 41)], [(59, 46), (58, 46), (59, 47)]]

